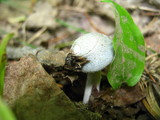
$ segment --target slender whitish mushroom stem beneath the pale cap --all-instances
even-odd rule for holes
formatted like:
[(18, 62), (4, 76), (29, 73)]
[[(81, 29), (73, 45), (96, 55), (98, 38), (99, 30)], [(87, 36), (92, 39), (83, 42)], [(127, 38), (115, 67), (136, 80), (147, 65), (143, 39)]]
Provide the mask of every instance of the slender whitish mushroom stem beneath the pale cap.
[(90, 95), (92, 93), (93, 86), (96, 86), (98, 91), (100, 90), (100, 82), (101, 82), (101, 71), (87, 74), (86, 87), (83, 97), (84, 104), (88, 103)]

